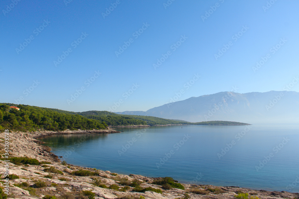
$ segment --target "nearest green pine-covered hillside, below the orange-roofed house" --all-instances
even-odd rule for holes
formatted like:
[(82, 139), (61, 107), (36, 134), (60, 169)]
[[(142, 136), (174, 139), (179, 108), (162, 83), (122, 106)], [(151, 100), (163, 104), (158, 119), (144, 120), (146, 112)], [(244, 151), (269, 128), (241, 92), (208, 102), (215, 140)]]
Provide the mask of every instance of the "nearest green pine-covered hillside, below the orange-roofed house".
[[(17, 106), (20, 110), (10, 108)], [(0, 104), (0, 129), (62, 131), (65, 129), (106, 129), (105, 122), (81, 115), (60, 113), (53, 109), (29, 105)]]

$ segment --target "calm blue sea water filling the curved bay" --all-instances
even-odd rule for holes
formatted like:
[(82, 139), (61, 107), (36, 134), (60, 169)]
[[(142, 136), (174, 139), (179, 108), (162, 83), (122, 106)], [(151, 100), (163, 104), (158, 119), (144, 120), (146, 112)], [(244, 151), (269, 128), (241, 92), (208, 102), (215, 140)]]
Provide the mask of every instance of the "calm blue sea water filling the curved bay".
[(67, 163), (182, 183), (299, 192), (299, 125), (123, 127), (42, 139)]

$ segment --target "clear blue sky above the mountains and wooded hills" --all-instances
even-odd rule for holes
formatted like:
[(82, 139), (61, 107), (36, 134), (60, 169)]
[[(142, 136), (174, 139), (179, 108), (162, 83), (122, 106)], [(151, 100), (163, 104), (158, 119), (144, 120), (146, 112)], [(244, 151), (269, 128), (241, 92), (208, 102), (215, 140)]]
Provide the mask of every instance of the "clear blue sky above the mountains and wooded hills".
[(298, 7), (295, 0), (3, 0), (1, 102), (146, 111), (174, 96), (283, 90), (299, 75)]

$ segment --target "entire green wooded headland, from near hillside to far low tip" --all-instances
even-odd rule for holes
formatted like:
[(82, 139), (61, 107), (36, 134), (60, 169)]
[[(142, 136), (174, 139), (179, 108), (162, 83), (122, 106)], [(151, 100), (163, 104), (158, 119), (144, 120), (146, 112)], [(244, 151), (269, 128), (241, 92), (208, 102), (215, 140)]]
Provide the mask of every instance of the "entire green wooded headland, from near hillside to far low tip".
[[(17, 110), (11, 108), (15, 106)], [(107, 126), (132, 125), (246, 125), (229, 121), (207, 121), (191, 123), (152, 116), (119, 115), (108, 111), (70, 112), (59, 109), (42, 108), (29, 105), (0, 104), (0, 129), (52, 131), (106, 129)]]

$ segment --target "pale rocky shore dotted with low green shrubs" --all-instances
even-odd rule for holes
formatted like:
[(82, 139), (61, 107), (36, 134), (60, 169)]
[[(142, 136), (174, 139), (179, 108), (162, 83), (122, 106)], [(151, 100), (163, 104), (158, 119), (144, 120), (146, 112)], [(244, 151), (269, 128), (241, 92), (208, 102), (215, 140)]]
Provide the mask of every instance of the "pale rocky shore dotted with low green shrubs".
[[(92, 130), (92, 131), (36, 131), (36, 132), (10, 132), (9, 133), (9, 156), (10, 157), (28, 157), (36, 158), (39, 165), (33, 164), (14, 164), (9, 163), (9, 195), (8, 198), (37, 199), (187, 199), (187, 198), (236, 198), (238, 193), (248, 193), (248, 198), (291, 198), (298, 199), (298, 193), (276, 192), (264, 190), (251, 190), (239, 187), (224, 187), (212, 185), (192, 185), (182, 184), (184, 190), (177, 188), (162, 188), (160, 185), (152, 184), (153, 181), (161, 178), (148, 178), (141, 175), (121, 175), (111, 173), (109, 171), (101, 171), (91, 168), (82, 168), (61, 163), (58, 157), (52, 154), (48, 146), (40, 145), (41, 142), (37, 138), (50, 136), (54, 134), (70, 134), (70, 133), (116, 133), (112, 129), (108, 130)], [(4, 132), (0, 134), (1, 151), (4, 156)], [(1, 186), (5, 187), (5, 158), (1, 158)], [(78, 172), (79, 171), (79, 172)], [(89, 174), (80, 176), (82, 173)], [(12, 175), (13, 174), (13, 175)], [(92, 175), (90, 175), (92, 174)], [(4, 178), (4, 179), (3, 179)], [(135, 183), (135, 184), (134, 184)], [(134, 186), (140, 186), (142, 189), (153, 188), (153, 190), (161, 190), (162, 193), (154, 191), (134, 192)], [(133, 186), (134, 185), (134, 186)], [(104, 188), (102, 188), (104, 187)], [(107, 188), (106, 188), (107, 187)], [(110, 189), (109, 189), (110, 187)], [(167, 190), (169, 189), (169, 190)], [(5, 192), (5, 190), (3, 190)], [(160, 191), (159, 191), (160, 192)], [(2, 193), (3, 194), (3, 193)], [(48, 195), (48, 196), (47, 196)], [(51, 196), (51, 197), (49, 197)], [(55, 198), (53, 197), (55, 196)], [(47, 198), (47, 199), (48, 199)]]

